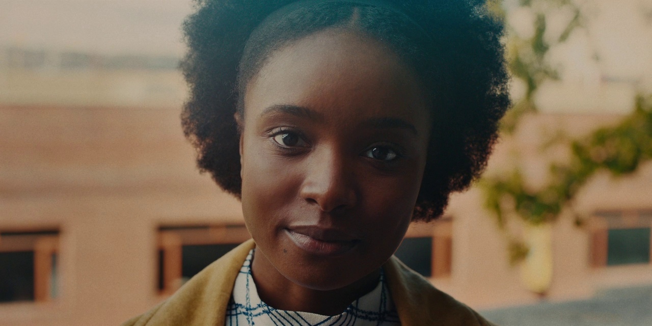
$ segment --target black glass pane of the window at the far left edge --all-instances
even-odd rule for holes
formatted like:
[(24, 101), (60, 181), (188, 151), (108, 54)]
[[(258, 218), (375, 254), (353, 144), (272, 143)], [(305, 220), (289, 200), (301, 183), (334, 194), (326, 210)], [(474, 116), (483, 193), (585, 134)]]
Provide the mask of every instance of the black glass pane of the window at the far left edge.
[(0, 252), (0, 302), (34, 300), (34, 252)]

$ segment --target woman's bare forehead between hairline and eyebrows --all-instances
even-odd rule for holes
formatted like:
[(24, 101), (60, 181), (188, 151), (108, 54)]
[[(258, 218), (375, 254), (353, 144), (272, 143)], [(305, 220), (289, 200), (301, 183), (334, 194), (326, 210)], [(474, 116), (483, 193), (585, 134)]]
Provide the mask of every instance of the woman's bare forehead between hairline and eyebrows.
[(415, 74), (396, 53), (370, 37), (337, 29), (277, 50), (248, 83), (245, 115), (280, 104), (326, 111), (333, 119), (428, 115)]

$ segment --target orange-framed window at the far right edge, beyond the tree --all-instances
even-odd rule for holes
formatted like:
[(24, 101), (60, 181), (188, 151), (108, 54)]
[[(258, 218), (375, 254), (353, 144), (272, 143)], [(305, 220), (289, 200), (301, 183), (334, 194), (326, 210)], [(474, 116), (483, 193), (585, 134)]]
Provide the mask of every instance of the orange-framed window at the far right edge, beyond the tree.
[(650, 263), (652, 212), (599, 212), (590, 225), (594, 267)]

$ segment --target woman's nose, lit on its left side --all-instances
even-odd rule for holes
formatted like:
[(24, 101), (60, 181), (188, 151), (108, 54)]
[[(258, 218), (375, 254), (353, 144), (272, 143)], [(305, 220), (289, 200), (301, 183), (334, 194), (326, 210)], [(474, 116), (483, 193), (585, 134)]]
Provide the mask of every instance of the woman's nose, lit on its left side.
[(300, 196), (308, 203), (318, 205), (325, 213), (353, 207), (357, 202), (354, 162), (329, 148), (315, 150), (310, 155)]

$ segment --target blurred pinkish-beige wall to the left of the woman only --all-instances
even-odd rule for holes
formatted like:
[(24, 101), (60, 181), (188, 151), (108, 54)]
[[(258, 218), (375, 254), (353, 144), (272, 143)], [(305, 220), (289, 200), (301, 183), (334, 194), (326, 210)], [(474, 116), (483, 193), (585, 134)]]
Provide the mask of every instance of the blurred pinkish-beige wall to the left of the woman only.
[(166, 109), (0, 108), (0, 229), (61, 230), (60, 298), (2, 325), (115, 325), (156, 300), (158, 224), (237, 222)]

